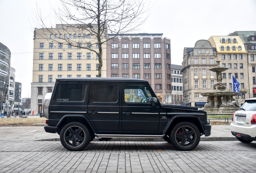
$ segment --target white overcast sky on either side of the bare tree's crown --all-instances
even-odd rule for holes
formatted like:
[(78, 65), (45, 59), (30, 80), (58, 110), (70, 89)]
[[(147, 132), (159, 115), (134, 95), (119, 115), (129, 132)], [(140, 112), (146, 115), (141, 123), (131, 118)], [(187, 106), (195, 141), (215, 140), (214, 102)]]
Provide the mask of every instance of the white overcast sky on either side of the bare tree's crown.
[[(47, 14), (58, 0), (0, 0), (0, 42), (11, 54), (21, 97), (30, 97), (33, 67), (33, 12)], [(171, 39), (171, 64), (181, 65), (184, 47), (197, 40), (256, 30), (256, 0), (151, 0), (151, 14), (139, 32)], [(46, 19), (47, 20), (47, 19)]]

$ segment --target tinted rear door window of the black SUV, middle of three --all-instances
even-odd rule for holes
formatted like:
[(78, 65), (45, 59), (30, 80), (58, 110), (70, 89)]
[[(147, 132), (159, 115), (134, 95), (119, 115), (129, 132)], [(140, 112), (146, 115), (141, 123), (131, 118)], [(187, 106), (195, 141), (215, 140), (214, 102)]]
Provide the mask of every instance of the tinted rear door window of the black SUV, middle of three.
[(91, 87), (91, 101), (116, 103), (118, 92), (119, 83), (95, 82)]

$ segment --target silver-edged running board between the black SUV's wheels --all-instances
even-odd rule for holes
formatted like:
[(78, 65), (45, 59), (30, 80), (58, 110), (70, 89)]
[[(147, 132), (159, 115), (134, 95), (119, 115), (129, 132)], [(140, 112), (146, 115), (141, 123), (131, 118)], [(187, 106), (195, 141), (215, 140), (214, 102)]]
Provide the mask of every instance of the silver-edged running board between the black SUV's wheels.
[(164, 135), (111, 135), (95, 134), (98, 138), (163, 138)]

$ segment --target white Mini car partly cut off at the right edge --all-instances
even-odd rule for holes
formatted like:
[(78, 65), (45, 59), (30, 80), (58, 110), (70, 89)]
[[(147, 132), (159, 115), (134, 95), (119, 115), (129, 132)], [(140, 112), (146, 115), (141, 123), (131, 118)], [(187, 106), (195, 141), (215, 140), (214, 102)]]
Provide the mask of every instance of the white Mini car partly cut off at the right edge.
[(242, 143), (256, 141), (256, 98), (246, 99), (244, 105), (233, 114), (230, 129)]

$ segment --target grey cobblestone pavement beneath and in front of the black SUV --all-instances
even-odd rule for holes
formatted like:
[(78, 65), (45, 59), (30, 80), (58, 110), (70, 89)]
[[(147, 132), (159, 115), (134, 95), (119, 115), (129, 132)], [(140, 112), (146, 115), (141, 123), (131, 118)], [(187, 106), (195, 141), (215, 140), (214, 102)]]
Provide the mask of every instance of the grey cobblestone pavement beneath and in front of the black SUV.
[[(0, 172), (256, 172), (256, 141), (200, 141), (193, 151), (177, 151), (163, 141), (93, 141), (74, 152), (60, 141), (46, 141), (58, 135), (43, 133), (42, 128), (0, 127)], [(228, 126), (216, 128), (228, 131)]]

